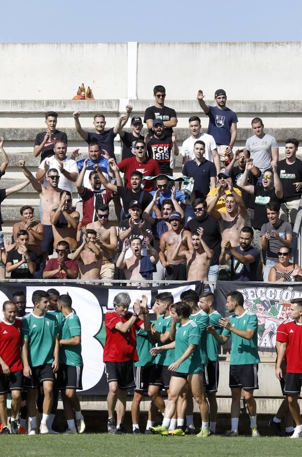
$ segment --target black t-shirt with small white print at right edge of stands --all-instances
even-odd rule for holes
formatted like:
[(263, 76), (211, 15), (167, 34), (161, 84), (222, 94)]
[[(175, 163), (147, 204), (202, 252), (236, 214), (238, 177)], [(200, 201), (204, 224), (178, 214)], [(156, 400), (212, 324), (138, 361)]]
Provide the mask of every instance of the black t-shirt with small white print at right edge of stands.
[(283, 201), (300, 200), (302, 190), (296, 191), (294, 182), (302, 182), (302, 161), (296, 159), (292, 165), (286, 163), (286, 159), (277, 162), (277, 172), (283, 187)]

